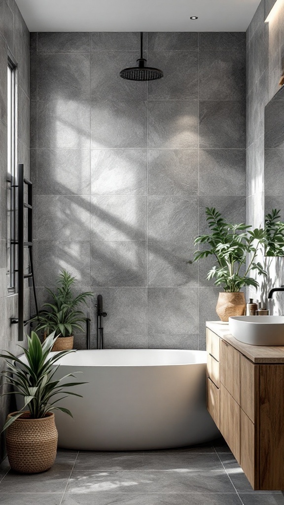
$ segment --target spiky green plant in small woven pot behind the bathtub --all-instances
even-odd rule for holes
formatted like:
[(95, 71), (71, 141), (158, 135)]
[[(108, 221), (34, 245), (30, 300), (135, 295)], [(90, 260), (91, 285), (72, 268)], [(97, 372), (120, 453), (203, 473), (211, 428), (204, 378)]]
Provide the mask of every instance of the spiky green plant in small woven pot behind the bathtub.
[(33, 319), (37, 322), (36, 331), (43, 330), (44, 338), (51, 332), (55, 332), (59, 337), (53, 351), (72, 349), (74, 329), (83, 331), (81, 323), (86, 321), (86, 317), (78, 307), (82, 303), (86, 304), (87, 298), (93, 296), (93, 293), (86, 291), (74, 296), (71, 289), (74, 282), (75, 277), (63, 270), (57, 279), (56, 291), (46, 288), (53, 302), (45, 303), (38, 316)]

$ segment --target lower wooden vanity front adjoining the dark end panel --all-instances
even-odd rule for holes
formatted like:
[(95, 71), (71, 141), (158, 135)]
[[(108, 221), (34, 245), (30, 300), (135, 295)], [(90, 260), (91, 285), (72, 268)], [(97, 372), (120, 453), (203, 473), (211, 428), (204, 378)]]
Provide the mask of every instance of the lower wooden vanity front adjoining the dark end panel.
[(241, 467), (254, 489), (259, 489), (258, 430), (241, 409)]

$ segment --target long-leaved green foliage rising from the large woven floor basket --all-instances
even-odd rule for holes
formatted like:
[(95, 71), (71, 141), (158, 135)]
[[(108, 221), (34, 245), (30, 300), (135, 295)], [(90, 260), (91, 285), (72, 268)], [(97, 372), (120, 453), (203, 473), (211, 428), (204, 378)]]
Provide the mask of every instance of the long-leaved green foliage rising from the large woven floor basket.
[[(8, 351), (6, 354), (0, 355), (1, 358), (4, 358), (7, 367), (2, 372), (6, 378), (4, 384), (9, 384), (15, 388), (14, 391), (2, 393), (1, 396), (19, 394), (24, 398), (23, 408), (6, 422), (3, 431), (20, 417), (26, 408), (30, 412), (30, 419), (43, 418), (48, 412), (55, 410), (64, 412), (73, 418), (68, 409), (59, 407), (57, 403), (70, 394), (82, 397), (80, 394), (69, 391), (68, 388), (86, 384), (85, 382), (62, 383), (68, 377), (75, 377), (73, 374), (67, 374), (60, 379), (54, 378), (59, 367), (56, 363), (63, 356), (69, 354), (69, 352), (75, 352), (73, 350), (65, 350), (51, 355), (51, 348), (57, 339), (54, 333), (46, 338), (43, 344), (40, 343), (34, 331), (31, 332), (30, 337), (27, 335), (27, 339), (28, 348), (25, 349), (20, 346), (24, 351), (26, 361), (20, 360), (19, 357), (14, 356)], [(55, 396), (57, 397), (55, 398)]]

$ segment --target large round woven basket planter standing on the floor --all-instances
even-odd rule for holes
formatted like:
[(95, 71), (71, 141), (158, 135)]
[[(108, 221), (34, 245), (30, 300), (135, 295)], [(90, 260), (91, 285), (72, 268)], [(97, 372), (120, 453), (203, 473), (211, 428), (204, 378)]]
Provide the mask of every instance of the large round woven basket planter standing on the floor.
[[(8, 419), (13, 414), (9, 414)], [(57, 439), (52, 412), (42, 419), (30, 419), (29, 412), (24, 412), (7, 429), (6, 446), (11, 468), (28, 474), (49, 470), (55, 462)]]

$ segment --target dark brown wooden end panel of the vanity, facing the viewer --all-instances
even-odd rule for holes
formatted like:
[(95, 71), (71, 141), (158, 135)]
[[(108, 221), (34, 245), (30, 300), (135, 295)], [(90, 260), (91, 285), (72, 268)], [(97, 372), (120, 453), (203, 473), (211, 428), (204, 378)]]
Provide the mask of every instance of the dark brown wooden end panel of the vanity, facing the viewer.
[(259, 366), (259, 484), (284, 489), (284, 365)]

